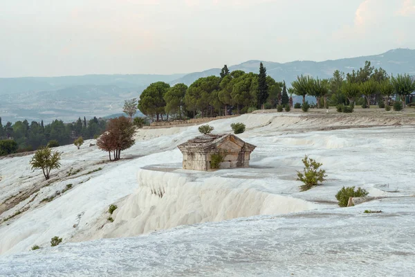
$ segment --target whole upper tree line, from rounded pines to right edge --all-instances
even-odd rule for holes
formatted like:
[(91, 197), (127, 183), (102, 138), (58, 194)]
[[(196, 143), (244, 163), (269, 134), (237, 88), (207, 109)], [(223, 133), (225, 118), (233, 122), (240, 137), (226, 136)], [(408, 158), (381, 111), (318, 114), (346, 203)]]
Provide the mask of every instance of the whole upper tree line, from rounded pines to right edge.
[(384, 69), (371, 66), (371, 62), (347, 74), (337, 70), (332, 78), (301, 75), (289, 89), (285, 81), (277, 82), (267, 75), (262, 63), (259, 73), (230, 72), (225, 65), (219, 76), (199, 78), (189, 87), (183, 83), (172, 87), (165, 82), (150, 84), (140, 95), (138, 109), (159, 121), (272, 109), (292, 103), (293, 94), (302, 96), (303, 103), (306, 96), (315, 97), (317, 107), (355, 105), (362, 100), (365, 100), (364, 106), (369, 107), (380, 101), (388, 102), (394, 95), (405, 101), (405, 96), (412, 91), (415, 91), (415, 82), (409, 75), (389, 76)]

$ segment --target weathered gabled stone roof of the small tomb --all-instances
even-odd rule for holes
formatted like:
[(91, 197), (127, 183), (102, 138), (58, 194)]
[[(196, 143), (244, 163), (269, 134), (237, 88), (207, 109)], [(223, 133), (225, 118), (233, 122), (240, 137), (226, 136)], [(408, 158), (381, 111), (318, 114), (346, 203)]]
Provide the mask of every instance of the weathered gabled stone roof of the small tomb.
[(233, 143), (239, 145), (241, 150), (244, 151), (253, 151), (256, 146), (250, 143), (242, 141), (234, 134), (203, 134), (201, 136), (196, 136), (194, 139), (178, 145), (178, 149), (183, 151), (203, 151), (203, 150), (215, 150), (219, 148), (219, 145), (225, 143), (226, 141), (232, 141)]

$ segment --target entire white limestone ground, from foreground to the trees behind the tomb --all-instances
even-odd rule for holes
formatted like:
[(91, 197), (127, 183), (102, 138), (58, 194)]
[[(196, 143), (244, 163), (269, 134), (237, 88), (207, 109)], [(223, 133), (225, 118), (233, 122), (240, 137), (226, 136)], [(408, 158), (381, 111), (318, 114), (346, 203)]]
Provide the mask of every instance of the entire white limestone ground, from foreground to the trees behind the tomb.
[[(55, 181), (32, 202), (29, 197), (1, 215), (29, 207), (0, 225), (0, 253), (15, 254), (1, 256), (0, 275), (411, 276), (413, 127), (318, 131), (385, 120), (295, 114), (250, 114), (210, 124), (215, 132), (230, 132), (230, 123), (239, 121), (247, 125), (241, 138), (257, 145), (248, 169), (177, 169), (176, 145), (196, 136), (196, 126), (142, 129), (136, 145), (123, 153), (131, 159), (117, 163), (98, 163), (107, 154), (95, 147), (58, 148), (64, 151), (62, 176), (81, 165), (85, 173), (102, 170)], [(299, 193), (295, 170), (302, 169), (304, 154), (324, 163), (329, 177), (324, 186)], [(29, 187), (30, 179), (41, 179), (29, 160), (0, 160), (0, 203)], [(39, 203), (69, 183), (71, 190)], [(335, 193), (342, 186), (396, 198), (338, 208)], [(113, 203), (119, 208), (111, 223), (106, 211)], [(366, 208), (384, 213), (366, 215)], [(230, 220), (246, 216), (254, 217)], [(183, 225), (199, 222), (218, 223)], [(64, 242), (50, 248), (55, 235)], [(97, 238), (118, 239), (71, 243)], [(34, 244), (44, 249), (28, 252)]]

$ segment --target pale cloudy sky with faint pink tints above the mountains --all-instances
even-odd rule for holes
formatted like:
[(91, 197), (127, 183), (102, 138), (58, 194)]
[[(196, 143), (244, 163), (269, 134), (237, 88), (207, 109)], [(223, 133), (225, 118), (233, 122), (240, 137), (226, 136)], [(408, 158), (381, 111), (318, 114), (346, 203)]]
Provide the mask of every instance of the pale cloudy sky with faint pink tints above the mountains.
[(415, 0), (0, 0), (0, 78), (376, 55), (414, 26)]

